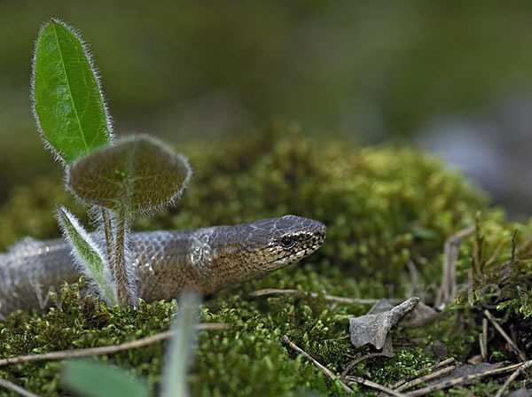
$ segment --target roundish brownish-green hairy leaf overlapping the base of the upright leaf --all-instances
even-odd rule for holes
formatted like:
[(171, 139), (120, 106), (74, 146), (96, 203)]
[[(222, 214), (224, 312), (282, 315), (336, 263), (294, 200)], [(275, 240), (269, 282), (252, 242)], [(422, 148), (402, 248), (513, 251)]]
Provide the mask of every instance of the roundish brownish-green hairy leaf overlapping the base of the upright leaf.
[(190, 175), (184, 157), (153, 138), (134, 136), (77, 161), (66, 185), (90, 205), (139, 212), (170, 204)]

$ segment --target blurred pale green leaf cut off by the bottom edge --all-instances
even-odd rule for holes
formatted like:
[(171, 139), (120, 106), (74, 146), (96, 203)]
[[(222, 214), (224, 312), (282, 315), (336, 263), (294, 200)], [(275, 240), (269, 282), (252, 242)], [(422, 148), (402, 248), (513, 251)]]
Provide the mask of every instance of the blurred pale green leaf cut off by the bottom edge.
[(103, 362), (67, 362), (63, 382), (75, 393), (84, 397), (147, 397), (145, 382), (134, 378), (126, 370)]

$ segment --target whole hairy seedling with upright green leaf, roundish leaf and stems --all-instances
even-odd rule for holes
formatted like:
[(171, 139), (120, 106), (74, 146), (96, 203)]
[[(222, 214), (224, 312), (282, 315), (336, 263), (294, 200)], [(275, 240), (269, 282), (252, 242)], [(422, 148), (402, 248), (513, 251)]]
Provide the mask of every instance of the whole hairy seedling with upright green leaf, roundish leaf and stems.
[[(51, 19), (35, 46), (33, 109), (44, 145), (63, 165), (66, 189), (90, 207), (93, 233), (59, 206), (74, 262), (108, 304), (137, 304), (130, 224), (179, 198), (188, 161), (148, 136), (114, 141), (98, 75), (72, 27)], [(101, 243), (104, 242), (104, 243)]]

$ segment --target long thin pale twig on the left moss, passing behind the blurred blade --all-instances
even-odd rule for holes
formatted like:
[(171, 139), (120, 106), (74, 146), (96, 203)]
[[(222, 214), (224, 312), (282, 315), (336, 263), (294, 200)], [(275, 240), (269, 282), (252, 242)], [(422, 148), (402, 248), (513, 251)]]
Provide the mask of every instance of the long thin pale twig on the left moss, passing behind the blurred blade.
[[(196, 331), (207, 330), (225, 330), (229, 328), (226, 323), (201, 323), (195, 327)], [(19, 364), (20, 362), (38, 362), (43, 360), (63, 360), (72, 357), (88, 357), (91, 355), (113, 354), (123, 350), (135, 349), (137, 347), (152, 345), (160, 340), (169, 339), (174, 335), (174, 331), (164, 331), (151, 335), (149, 337), (124, 342), (119, 345), (89, 347), (77, 350), (59, 350), (58, 352), (50, 352), (43, 354), (28, 354), (19, 355), (17, 357), (7, 357), (0, 359), (0, 366), (8, 364)]]

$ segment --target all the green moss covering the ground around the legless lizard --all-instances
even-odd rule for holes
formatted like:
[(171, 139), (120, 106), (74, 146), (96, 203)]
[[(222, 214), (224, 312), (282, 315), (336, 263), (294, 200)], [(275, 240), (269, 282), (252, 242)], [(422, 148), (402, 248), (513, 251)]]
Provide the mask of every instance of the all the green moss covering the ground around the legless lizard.
[[(175, 208), (137, 220), (135, 229), (193, 228), (287, 213), (318, 219), (328, 227), (325, 245), (300, 265), (207, 297), (201, 321), (230, 323), (231, 329), (200, 333), (191, 373), (195, 395), (278, 396), (308, 390), (341, 395), (338, 385), (283, 346), (279, 337), (287, 334), (319, 362), (340, 372), (351, 361), (346, 354), (356, 354), (342, 339), (348, 331), (347, 317), (361, 315), (367, 307), (331, 304), (323, 296), (312, 298), (304, 291), (401, 297), (410, 280), (405, 268), (408, 258), (417, 258), (419, 283), (438, 283), (443, 242), (470, 226), (479, 210), (485, 236), (483, 253), (486, 257), (496, 253), (489, 269), (508, 260), (512, 248), (507, 243), (515, 226), (523, 231), (517, 240), (521, 245), (525, 244), (524, 232), (529, 231), (528, 225), (504, 225), (504, 214), (489, 209), (481, 191), (447, 170), (441, 161), (411, 149), (313, 140), (296, 124), (289, 124), (239, 140), (193, 144), (183, 152), (190, 156), (195, 171), (190, 188)], [(28, 233), (26, 221), (21, 222), (25, 217), (27, 222), (41, 225), (35, 228), (36, 237), (57, 235), (52, 209), (55, 202), (66, 204), (67, 200), (57, 183), (59, 178), (52, 177), (12, 194), (0, 208), (0, 222), (9, 230), (0, 244)], [(471, 268), (475, 241), (471, 236), (460, 245), (460, 277)], [(502, 241), (505, 244), (497, 251)], [(520, 259), (526, 260), (524, 256)], [(1, 323), (0, 356), (141, 338), (166, 330), (175, 308), (168, 302), (143, 304), (137, 311), (109, 308), (98, 300), (81, 298), (77, 287), (60, 293), (58, 300), (64, 300), (61, 309), (51, 309), (46, 315), (16, 313)], [(248, 295), (267, 287), (293, 288), (301, 293)], [(522, 288), (528, 287), (523, 284)], [(515, 301), (512, 293), (508, 297)], [(468, 331), (454, 332), (464, 316), (470, 322)], [(473, 349), (477, 330), (473, 310), (457, 309), (431, 327), (396, 334), (395, 338), (411, 339), (415, 332), (425, 338), (423, 344), (400, 349), (392, 359), (363, 362), (356, 373), (369, 374), (383, 383), (402, 378), (437, 359), (429, 348), (435, 339), (447, 342), (450, 353), (465, 358)], [(99, 360), (129, 368), (155, 390), (164, 347), (160, 343)], [(0, 377), (35, 393), (55, 396), (64, 393), (59, 382), (61, 365), (35, 362), (0, 367)], [(377, 394), (363, 386), (357, 390)]]

